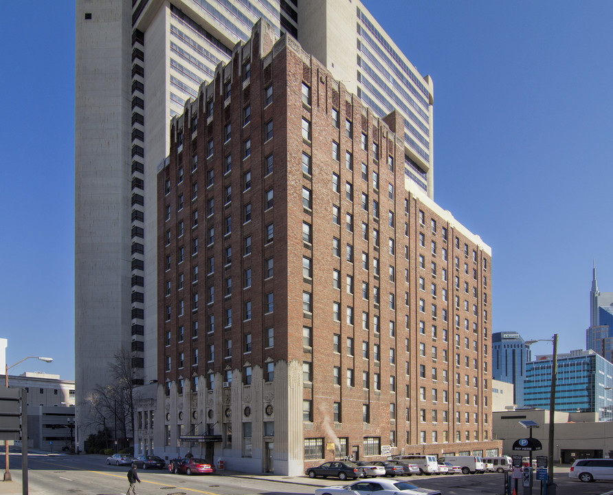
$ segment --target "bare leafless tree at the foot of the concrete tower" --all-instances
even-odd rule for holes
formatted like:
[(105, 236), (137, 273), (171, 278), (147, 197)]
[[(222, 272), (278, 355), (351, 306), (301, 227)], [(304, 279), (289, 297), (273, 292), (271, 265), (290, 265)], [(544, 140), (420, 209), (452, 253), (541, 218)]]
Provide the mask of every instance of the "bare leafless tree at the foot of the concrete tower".
[(129, 445), (134, 432), (134, 405), (137, 393), (132, 383), (132, 357), (129, 351), (120, 350), (109, 363), (110, 384), (98, 384), (87, 394), (87, 402), (94, 412), (91, 426), (113, 431), (118, 447)]

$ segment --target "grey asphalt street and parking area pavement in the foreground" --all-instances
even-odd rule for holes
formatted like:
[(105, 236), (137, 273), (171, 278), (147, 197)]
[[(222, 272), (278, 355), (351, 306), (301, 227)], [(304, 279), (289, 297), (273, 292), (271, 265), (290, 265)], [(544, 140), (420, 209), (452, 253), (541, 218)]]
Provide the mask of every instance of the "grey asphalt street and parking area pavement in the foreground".
[[(30, 495), (120, 495), (126, 492), (127, 466), (109, 466), (104, 456), (28, 456)], [(3, 495), (21, 494), (21, 456), (11, 455), (14, 482), (0, 482)], [(170, 474), (168, 470), (139, 470), (142, 481), (139, 495), (313, 495), (315, 488), (346, 485), (337, 479), (310, 479), (307, 476), (269, 476), (219, 472), (215, 475), (186, 476)], [(443, 495), (504, 495), (502, 474), (454, 474), (449, 476), (412, 476), (401, 478), (421, 487), (440, 489)], [(568, 467), (556, 467), (557, 495), (601, 495), (613, 491), (613, 481), (581, 483), (568, 478)], [(540, 482), (532, 495), (540, 494)], [(524, 495), (523, 488), (517, 495)]]

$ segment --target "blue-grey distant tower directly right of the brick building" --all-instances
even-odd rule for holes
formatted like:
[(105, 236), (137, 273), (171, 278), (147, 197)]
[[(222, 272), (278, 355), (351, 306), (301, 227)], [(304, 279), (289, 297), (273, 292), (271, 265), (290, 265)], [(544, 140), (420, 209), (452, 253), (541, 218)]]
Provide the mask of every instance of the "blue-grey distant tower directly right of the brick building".
[(530, 349), (524, 345), (524, 339), (515, 331), (491, 334), (492, 341), (492, 377), (494, 380), (512, 383), (513, 404), (524, 406), (524, 376), (526, 362), (530, 360)]

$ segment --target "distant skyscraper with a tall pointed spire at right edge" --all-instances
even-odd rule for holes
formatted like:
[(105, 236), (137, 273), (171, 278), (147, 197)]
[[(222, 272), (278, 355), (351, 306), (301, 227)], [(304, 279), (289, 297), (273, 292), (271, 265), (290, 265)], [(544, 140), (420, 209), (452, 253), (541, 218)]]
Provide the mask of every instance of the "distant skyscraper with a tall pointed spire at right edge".
[(613, 292), (599, 292), (595, 263), (592, 268), (590, 328), (586, 330), (586, 349), (593, 349), (613, 362)]

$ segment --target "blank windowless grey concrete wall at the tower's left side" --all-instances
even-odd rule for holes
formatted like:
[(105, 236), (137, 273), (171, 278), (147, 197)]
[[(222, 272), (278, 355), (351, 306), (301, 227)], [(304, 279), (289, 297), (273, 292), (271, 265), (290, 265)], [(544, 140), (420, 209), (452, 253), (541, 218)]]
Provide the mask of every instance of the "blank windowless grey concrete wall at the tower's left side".
[(129, 19), (122, 0), (76, 3), (77, 404), (109, 379), (108, 362), (130, 338)]

